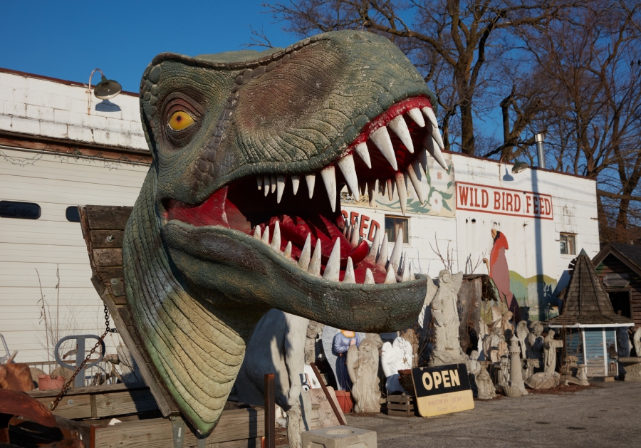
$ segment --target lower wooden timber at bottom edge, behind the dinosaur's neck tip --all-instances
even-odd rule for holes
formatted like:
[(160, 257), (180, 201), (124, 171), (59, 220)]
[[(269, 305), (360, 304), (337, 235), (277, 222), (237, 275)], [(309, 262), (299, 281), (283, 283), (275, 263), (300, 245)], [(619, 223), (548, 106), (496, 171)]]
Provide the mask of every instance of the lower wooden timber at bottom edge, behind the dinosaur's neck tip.
[[(229, 442), (264, 436), (264, 410), (239, 409), (224, 411), (216, 429), (206, 443)], [(92, 448), (173, 448), (172, 422), (169, 419), (150, 419), (123, 422), (108, 427), (93, 427)], [(184, 447), (197, 444), (193, 432), (187, 430)]]

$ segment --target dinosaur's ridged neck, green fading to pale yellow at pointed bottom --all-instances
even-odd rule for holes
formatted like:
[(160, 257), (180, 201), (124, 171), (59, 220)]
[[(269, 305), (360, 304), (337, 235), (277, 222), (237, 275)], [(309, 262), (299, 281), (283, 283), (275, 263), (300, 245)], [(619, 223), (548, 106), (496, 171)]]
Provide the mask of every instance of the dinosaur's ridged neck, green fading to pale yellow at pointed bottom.
[(125, 232), (127, 301), (157, 373), (184, 416), (207, 434), (219, 420), (256, 322), (190, 296), (172, 274), (155, 191), (144, 191), (155, 190), (153, 171)]

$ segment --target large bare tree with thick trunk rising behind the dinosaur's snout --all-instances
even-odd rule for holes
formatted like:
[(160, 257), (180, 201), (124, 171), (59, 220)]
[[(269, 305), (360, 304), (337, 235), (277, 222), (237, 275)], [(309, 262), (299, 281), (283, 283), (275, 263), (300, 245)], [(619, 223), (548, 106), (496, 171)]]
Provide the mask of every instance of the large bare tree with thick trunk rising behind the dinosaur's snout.
[[(300, 36), (359, 28), (389, 37), (435, 86), (446, 145), (454, 145), (456, 130), (460, 150), (474, 154), (475, 115), (493, 107), (483, 99), (501, 81), (496, 77), (501, 56), (516, 48), (511, 33), (541, 26), (568, 5), (567, 0), (298, 0), (266, 7)], [(506, 104), (516, 104), (514, 95)], [(516, 126), (514, 135), (523, 128)], [(509, 147), (518, 143), (514, 135), (508, 135)]]

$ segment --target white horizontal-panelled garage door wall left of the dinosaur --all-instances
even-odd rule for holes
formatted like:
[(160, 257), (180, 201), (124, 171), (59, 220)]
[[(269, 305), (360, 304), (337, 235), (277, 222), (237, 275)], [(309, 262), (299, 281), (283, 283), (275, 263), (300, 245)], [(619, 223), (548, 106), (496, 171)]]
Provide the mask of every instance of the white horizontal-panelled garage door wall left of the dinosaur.
[[(38, 273), (53, 318), (49, 324), (55, 328), (55, 316), (59, 316), (60, 337), (104, 331), (103, 305), (90, 281), (80, 224), (67, 221), (66, 208), (131, 206), (148, 167), (0, 151), (0, 200), (36, 202), (42, 209), (36, 220), (0, 218), (0, 333), (10, 350), (19, 350), (19, 362), (47, 360)], [(117, 339), (108, 336), (108, 345)], [(113, 349), (108, 348), (108, 353)]]

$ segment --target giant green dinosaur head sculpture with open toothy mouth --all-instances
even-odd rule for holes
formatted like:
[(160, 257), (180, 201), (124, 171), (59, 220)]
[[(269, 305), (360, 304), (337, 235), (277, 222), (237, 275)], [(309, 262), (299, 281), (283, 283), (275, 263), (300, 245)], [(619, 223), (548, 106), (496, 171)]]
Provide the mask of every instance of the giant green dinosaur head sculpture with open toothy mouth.
[(163, 53), (140, 96), (153, 163), (125, 231), (127, 300), (197, 429), (217, 423), (269, 308), (366, 332), (415, 320), (427, 278), (396, 282), (350, 244), (337, 197), (416, 174), (438, 132), (421, 115), (433, 119), (432, 93), (390, 41), (340, 31), (260, 53)]

